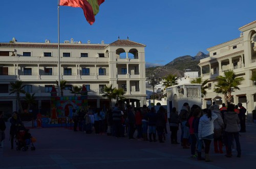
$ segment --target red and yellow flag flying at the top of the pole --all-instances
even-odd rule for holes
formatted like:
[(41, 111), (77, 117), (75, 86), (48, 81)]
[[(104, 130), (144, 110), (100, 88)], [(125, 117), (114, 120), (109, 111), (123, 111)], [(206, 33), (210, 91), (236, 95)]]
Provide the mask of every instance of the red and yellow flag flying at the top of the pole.
[(99, 6), (105, 0), (60, 0), (60, 6), (70, 6), (82, 8), (86, 20), (93, 25), (95, 15), (99, 12)]

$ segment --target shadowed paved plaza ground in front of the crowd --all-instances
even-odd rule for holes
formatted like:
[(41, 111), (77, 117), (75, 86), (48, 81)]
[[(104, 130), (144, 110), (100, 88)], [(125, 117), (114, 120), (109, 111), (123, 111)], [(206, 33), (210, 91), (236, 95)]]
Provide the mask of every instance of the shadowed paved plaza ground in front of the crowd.
[[(34, 128), (35, 151), (10, 149), (7, 124), (5, 147), (0, 152), (2, 168), (255, 168), (256, 124), (247, 124), (241, 133), (242, 157), (232, 158), (215, 154), (211, 144), (212, 162), (190, 159), (190, 149), (170, 144), (168, 133), (165, 143), (129, 140), (107, 135), (85, 134), (67, 128)], [(179, 134), (180, 134), (179, 130)]]

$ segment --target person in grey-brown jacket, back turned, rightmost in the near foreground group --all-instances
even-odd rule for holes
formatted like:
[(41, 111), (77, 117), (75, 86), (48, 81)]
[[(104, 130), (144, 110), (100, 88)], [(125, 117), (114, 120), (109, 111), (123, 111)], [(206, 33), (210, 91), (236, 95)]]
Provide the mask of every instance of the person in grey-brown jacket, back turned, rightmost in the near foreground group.
[(225, 115), (224, 123), (226, 124), (226, 136), (227, 136), (227, 155), (226, 157), (232, 157), (232, 140), (236, 141), (238, 155), (237, 157), (241, 157), (241, 145), (239, 141), (239, 123), (240, 119), (238, 114), (234, 112), (234, 105), (230, 104), (227, 107), (227, 113)]

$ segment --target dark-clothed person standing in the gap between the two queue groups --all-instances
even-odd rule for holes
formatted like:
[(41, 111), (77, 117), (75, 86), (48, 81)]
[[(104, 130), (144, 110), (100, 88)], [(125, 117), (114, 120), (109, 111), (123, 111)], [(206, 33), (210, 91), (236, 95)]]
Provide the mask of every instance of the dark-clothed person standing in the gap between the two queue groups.
[(178, 112), (175, 107), (173, 107), (172, 112), (170, 112), (169, 118), (169, 125), (170, 125), (170, 143), (172, 144), (179, 144), (177, 138), (177, 132), (179, 130), (179, 118)]

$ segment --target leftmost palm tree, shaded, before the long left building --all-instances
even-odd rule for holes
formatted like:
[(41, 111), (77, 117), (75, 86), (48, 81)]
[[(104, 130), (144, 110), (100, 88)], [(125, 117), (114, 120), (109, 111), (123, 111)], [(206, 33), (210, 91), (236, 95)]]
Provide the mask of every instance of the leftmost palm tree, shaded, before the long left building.
[(22, 81), (10, 82), (10, 85), (11, 85), (11, 89), (9, 94), (13, 94), (13, 93), (16, 94), (20, 112), (24, 113), (22, 103), (20, 102), (20, 93), (26, 93), (25, 90), (23, 89), (24, 88), (23, 82)]

